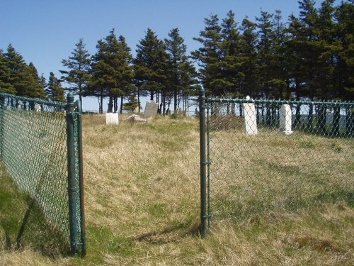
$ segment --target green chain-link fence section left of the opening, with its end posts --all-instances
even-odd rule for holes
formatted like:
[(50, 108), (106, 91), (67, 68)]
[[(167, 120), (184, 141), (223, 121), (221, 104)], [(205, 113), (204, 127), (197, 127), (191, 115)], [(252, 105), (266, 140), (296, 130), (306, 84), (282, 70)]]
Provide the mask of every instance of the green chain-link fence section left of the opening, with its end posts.
[(72, 255), (85, 255), (79, 101), (72, 94), (67, 104), (3, 93), (0, 99), (1, 161), (8, 174), (62, 233)]

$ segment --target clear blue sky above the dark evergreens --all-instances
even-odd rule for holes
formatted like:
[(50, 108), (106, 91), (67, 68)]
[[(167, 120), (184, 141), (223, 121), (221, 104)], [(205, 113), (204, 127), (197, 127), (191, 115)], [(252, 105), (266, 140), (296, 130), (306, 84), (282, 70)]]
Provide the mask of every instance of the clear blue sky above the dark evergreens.
[[(135, 56), (136, 45), (151, 28), (158, 38), (167, 38), (172, 28), (190, 51), (200, 48), (193, 40), (205, 28), (204, 18), (217, 14), (220, 21), (232, 10), (236, 21), (251, 21), (261, 11), (282, 11), (283, 20), (298, 15), (298, 0), (0, 0), (0, 49), (8, 44), (25, 62), (33, 62), (39, 74), (60, 77), (62, 60), (71, 56), (75, 44), (84, 39), (86, 50), (96, 53), (98, 40), (115, 28)], [(316, 1), (320, 4), (321, 1)], [(65, 86), (65, 84), (63, 84)], [(97, 99), (84, 99), (84, 110), (97, 111)]]

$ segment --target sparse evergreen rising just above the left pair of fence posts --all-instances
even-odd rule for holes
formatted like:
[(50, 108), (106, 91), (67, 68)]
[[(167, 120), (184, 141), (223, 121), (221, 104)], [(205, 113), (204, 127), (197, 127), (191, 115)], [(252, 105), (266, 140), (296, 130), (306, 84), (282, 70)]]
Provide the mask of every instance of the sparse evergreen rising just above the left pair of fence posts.
[(62, 60), (62, 65), (69, 70), (60, 70), (60, 72), (63, 74), (62, 79), (70, 85), (69, 92), (79, 94), (79, 99), (82, 103), (82, 95), (90, 79), (91, 59), (89, 52), (85, 49), (82, 38), (79, 39), (79, 43), (76, 43), (75, 46), (72, 56), (67, 60)]

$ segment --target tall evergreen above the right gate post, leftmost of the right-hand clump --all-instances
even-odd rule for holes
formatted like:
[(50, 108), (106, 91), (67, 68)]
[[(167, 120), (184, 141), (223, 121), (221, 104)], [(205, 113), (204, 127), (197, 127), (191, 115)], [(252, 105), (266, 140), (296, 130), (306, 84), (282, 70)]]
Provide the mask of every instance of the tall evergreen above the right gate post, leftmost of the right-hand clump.
[(193, 38), (202, 44), (198, 50), (191, 52), (192, 58), (198, 61), (200, 79), (208, 94), (220, 96), (224, 94), (224, 82), (220, 71), (222, 27), (219, 26), (217, 15), (205, 18), (205, 29), (200, 31), (200, 37)]

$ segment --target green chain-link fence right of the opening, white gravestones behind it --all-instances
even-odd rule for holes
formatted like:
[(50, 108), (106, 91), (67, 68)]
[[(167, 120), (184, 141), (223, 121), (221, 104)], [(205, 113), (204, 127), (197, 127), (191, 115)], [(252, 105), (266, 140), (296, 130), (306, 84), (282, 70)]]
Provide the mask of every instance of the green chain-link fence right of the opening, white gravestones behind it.
[(353, 137), (354, 102), (207, 99), (201, 91), (202, 233), (212, 219), (353, 202)]

